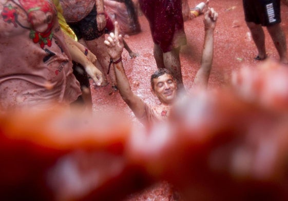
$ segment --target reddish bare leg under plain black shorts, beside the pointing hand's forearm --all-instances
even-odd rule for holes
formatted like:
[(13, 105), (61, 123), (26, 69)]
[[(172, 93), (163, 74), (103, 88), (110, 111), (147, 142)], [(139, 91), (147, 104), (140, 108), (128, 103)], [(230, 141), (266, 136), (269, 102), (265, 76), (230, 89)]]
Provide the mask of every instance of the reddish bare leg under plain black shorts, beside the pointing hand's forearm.
[[(109, 62), (110, 62), (110, 56), (108, 55), (107, 51), (106, 51), (106, 46), (104, 44), (104, 40), (105, 40), (105, 35), (103, 34), (101, 37), (96, 38), (94, 40), (86, 40), (86, 44), (88, 49), (97, 57), (97, 60), (99, 61), (99, 63), (102, 66), (102, 73), (104, 75), (107, 75), (108, 72), (108, 66), (109, 66)], [(98, 67), (98, 66), (97, 66)], [(100, 70), (100, 69), (99, 69)], [(115, 78), (115, 73), (114, 73), (114, 69), (110, 68), (110, 72), (109, 72), (109, 78), (110, 78), (110, 84), (111, 86), (116, 85), (116, 78)]]

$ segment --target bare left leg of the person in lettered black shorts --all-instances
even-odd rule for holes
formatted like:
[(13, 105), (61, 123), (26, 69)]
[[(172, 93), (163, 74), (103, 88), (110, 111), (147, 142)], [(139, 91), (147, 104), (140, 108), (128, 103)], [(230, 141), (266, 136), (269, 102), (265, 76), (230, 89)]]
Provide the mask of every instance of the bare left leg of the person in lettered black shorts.
[(260, 58), (266, 57), (265, 49), (265, 34), (261, 25), (256, 25), (255, 23), (246, 22), (247, 27), (251, 31), (252, 38), (255, 42), (256, 48), (258, 50), (258, 55)]

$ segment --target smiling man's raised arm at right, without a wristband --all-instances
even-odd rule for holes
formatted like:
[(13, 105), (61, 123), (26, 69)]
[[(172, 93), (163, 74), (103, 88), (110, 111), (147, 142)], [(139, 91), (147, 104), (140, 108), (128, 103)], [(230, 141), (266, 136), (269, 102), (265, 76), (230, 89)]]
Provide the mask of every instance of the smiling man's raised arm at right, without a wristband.
[(204, 45), (201, 59), (201, 67), (198, 70), (194, 85), (196, 87), (207, 87), (208, 79), (210, 76), (210, 71), (212, 68), (213, 61), (213, 44), (214, 44), (214, 29), (216, 26), (216, 21), (218, 18), (218, 13), (214, 11), (213, 8), (209, 8), (205, 12), (204, 16)]

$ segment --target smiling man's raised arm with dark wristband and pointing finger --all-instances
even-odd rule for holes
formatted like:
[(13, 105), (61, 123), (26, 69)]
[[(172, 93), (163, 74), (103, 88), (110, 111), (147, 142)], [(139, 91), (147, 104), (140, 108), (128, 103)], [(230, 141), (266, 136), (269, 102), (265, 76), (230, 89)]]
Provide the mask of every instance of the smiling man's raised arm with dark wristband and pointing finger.
[(107, 46), (107, 52), (113, 61), (117, 87), (123, 100), (131, 108), (137, 118), (142, 118), (145, 114), (145, 103), (141, 98), (134, 94), (131, 90), (129, 80), (125, 74), (121, 54), (123, 52), (124, 44), (122, 35), (119, 35), (119, 25), (115, 22), (115, 33), (111, 32), (104, 43)]

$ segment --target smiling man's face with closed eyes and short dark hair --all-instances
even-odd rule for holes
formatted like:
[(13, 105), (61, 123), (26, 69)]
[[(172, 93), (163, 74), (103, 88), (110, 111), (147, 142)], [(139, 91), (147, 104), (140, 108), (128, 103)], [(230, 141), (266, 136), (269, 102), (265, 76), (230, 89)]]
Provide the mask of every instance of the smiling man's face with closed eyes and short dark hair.
[(153, 93), (159, 98), (161, 103), (171, 104), (177, 91), (176, 80), (169, 74), (163, 74), (153, 79)]

